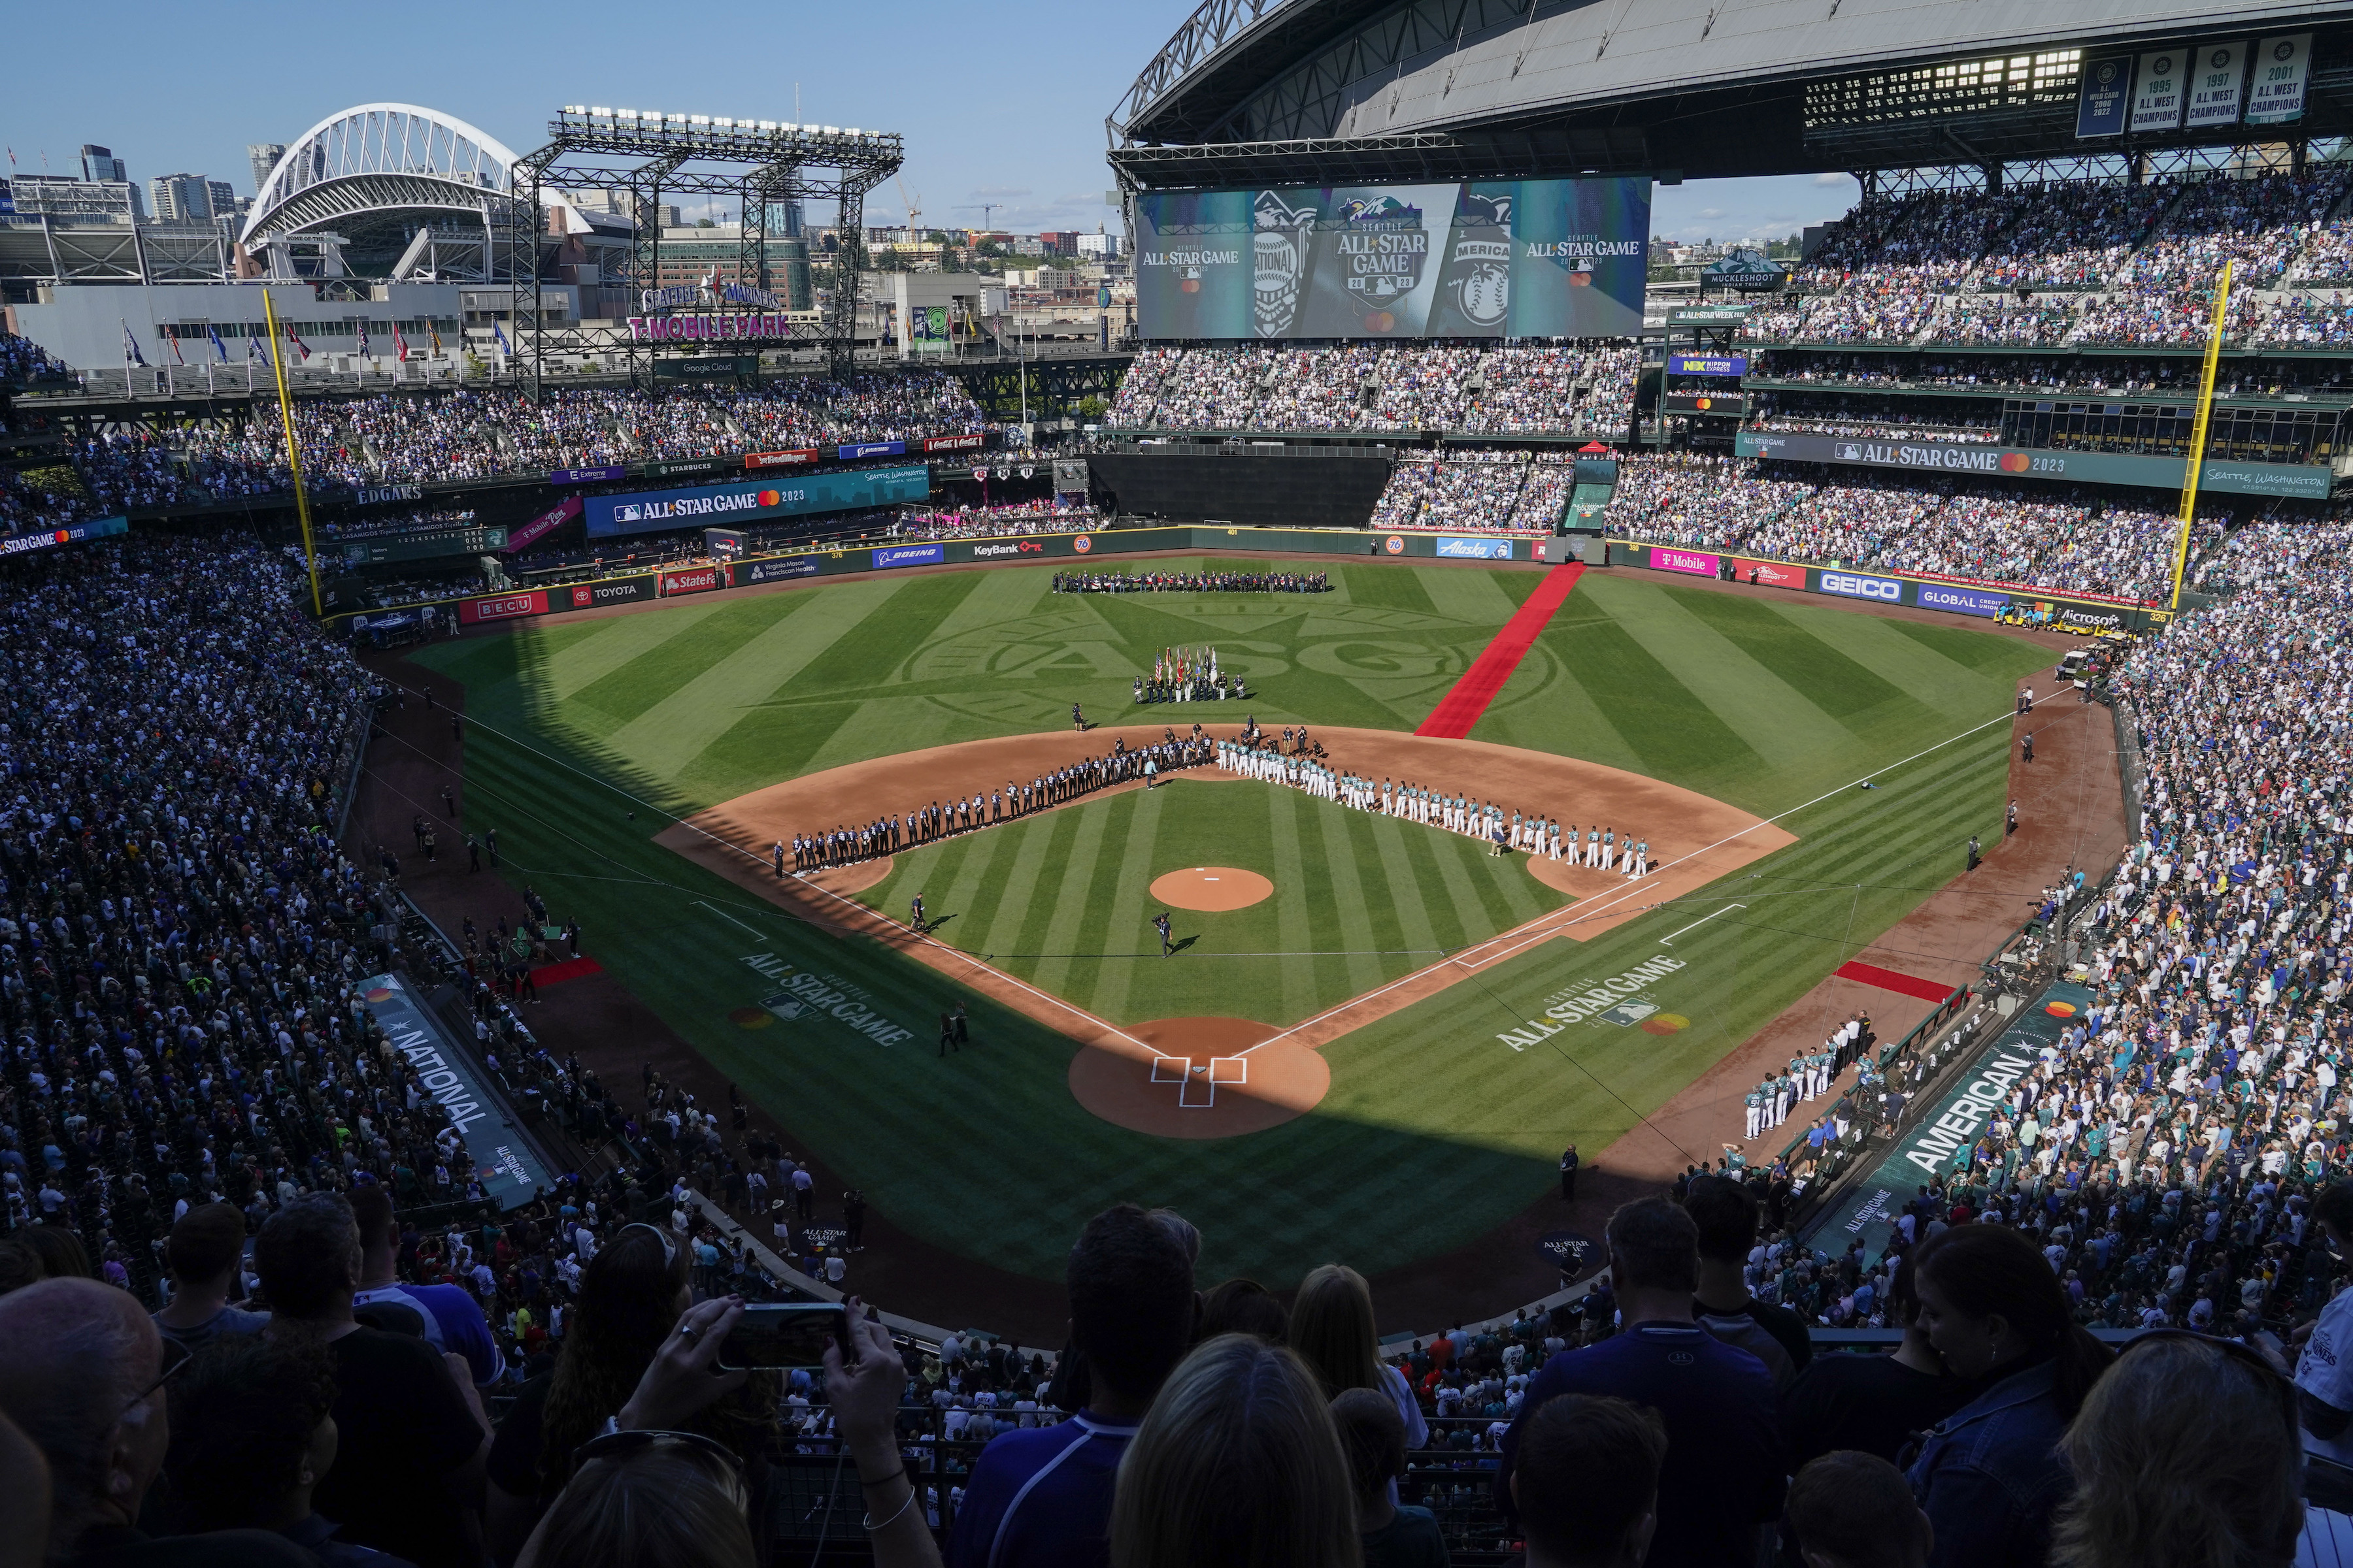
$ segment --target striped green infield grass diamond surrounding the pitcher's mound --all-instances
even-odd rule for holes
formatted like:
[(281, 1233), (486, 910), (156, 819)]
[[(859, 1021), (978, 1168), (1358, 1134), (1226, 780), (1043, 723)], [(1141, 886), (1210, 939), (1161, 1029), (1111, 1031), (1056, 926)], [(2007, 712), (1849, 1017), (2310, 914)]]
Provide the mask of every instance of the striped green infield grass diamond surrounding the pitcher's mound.
[[(1348, 811), (1259, 780), (1158, 790), (901, 853), (861, 898), (1111, 1023), (1299, 1023), (1442, 954), (1572, 903), (1457, 832)], [(1247, 910), (1174, 912), (1162, 961), (1153, 877), (1235, 865), (1275, 884)]]

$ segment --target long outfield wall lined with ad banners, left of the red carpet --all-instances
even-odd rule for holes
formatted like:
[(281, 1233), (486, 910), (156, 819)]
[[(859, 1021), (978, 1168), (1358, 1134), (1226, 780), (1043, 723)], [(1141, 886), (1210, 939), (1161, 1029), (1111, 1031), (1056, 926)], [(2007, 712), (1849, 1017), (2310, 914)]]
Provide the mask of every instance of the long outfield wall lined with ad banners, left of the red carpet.
[[(762, 555), (741, 562), (675, 567), (666, 571), (628, 571), (586, 583), (520, 588), (456, 599), (459, 625), (494, 621), (529, 621), (574, 609), (675, 599), (680, 595), (800, 578), (852, 576), (864, 571), (899, 571), (906, 567), (1019, 567), (1038, 562), (1101, 562), (1115, 571), (1120, 555), (1219, 550), (1240, 555), (1369, 555), (1377, 559), (1459, 559), (1459, 562), (1560, 562), (1577, 559), (1569, 538), (1527, 538), (1511, 534), (1386, 534), (1365, 529), (1249, 529), (1249, 527), (1162, 527), (1106, 529), (1099, 534), (1012, 534), (1002, 538), (934, 538), (918, 543), (880, 543), (856, 548), (819, 548), (793, 555)], [(388, 609), (362, 609), (327, 616), (329, 625), (353, 616), (386, 616)]]

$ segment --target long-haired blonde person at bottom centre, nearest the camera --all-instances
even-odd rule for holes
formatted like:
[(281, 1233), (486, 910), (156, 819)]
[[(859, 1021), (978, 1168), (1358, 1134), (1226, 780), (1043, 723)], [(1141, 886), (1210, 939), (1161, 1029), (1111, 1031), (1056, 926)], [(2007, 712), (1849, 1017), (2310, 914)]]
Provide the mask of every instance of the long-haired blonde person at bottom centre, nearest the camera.
[(1113, 1568), (1358, 1568), (1355, 1486), (1315, 1373), (1228, 1333), (1186, 1356), (1120, 1462)]

